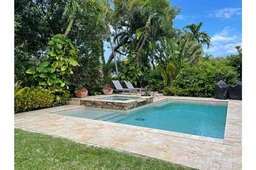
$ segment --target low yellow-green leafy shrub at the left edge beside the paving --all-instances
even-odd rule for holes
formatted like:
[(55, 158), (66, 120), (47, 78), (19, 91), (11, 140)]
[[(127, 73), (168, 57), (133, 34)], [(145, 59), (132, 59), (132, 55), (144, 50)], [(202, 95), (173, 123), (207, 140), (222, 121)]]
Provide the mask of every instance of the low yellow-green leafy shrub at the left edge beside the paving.
[(54, 103), (54, 94), (41, 86), (28, 87), (16, 96), (14, 112), (27, 112), (35, 109), (51, 107)]

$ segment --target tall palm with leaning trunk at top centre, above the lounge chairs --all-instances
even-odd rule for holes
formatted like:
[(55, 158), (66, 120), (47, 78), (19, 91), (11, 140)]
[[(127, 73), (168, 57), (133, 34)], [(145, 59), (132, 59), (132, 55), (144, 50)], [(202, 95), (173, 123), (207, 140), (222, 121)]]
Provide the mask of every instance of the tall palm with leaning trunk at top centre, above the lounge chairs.
[[(149, 36), (152, 17), (154, 17), (155, 15), (169, 17), (170, 14), (168, 13), (168, 10), (170, 9), (170, 3), (167, 0), (131, 0), (130, 9), (140, 9), (148, 13), (146, 26), (143, 27), (145, 31), (136, 31), (137, 35), (139, 35), (140, 37), (140, 40), (137, 44), (137, 48), (140, 46), (136, 55), (136, 58), (138, 58), (146, 42), (146, 39)], [(137, 38), (139, 37), (137, 36)], [(142, 43), (140, 44), (141, 40)]]

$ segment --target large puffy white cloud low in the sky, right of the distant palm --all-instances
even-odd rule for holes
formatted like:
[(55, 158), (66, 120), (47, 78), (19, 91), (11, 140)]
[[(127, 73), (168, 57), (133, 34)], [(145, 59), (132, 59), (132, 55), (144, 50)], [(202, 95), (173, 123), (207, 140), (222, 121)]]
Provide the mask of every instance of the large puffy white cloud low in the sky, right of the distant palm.
[(216, 32), (211, 37), (211, 47), (204, 47), (205, 53), (215, 57), (237, 54), (235, 46), (242, 46), (242, 36), (235, 29), (225, 27), (221, 32)]

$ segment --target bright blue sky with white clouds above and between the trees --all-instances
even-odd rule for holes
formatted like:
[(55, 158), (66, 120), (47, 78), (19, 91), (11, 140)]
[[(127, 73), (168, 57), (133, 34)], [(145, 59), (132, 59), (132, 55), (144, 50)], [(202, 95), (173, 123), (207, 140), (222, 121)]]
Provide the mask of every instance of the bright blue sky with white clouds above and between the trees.
[[(242, 1), (241, 0), (171, 0), (172, 6), (182, 9), (173, 20), (174, 26), (182, 29), (190, 23), (203, 22), (201, 31), (212, 38), (212, 46), (204, 51), (214, 57), (236, 54), (235, 46), (242, 46)], [(105, 43), (105, 60), (111, 50)]]

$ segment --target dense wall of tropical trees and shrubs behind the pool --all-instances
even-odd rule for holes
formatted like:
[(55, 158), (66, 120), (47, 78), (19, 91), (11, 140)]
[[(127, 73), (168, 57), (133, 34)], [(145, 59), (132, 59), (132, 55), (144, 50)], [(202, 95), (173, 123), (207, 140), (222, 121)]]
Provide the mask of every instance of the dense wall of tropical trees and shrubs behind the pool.
[(204, 54), (211, 37), (202, 22), (176, 29), (180, 11), (167, 0), (15, 0), (15, 82), (28, 87), (15, 95), (15, 112), (66, 104), (80, 88), (98, 95), (116, 79), (195, 97), (212, 97), (220, 80), (241, 81), (241, 48)]

